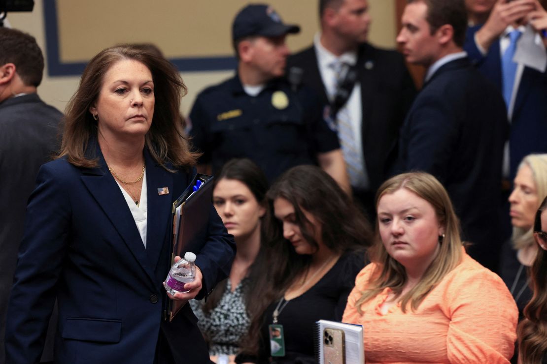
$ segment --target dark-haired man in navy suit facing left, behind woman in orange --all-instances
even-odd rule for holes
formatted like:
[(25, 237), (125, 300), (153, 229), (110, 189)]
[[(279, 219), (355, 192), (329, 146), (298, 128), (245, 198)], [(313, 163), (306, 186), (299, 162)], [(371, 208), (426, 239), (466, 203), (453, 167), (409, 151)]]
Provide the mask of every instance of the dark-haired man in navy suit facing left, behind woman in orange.
[(497, 209), (507, 116), (503, 98), (462, 51), (463, 0), (410, 1), (397, 37), (426, 80), (401, 129), (399, 167), (423, 170), (446, 187), (470, 254), (496, 269)]

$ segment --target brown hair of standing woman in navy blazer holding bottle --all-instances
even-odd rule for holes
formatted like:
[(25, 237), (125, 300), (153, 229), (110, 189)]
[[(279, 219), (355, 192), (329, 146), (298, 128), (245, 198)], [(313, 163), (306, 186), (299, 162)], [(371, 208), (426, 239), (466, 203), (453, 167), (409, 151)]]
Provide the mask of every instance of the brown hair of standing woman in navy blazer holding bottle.
[(198, 155), (190, 151), (179, 121), (179, 104), (187, 93), (181, 76), (164, 57), (131, 44), (104, 49), (85, 67), (78, 89), (65, 110), (59, 157), (67, 156), (69, 163), (79, 167), (93, 168), (98, 165), (97, 158), (86, 154), (90, 139), (97, 136), (97, 121), (89, 108), (98, 99), (104, 74), (124, 59), (141, 62), (152, 73), (154, 116), (145, 142), (154, 160), (164, 167), (166, 162), (176, 167), (195, 165)]

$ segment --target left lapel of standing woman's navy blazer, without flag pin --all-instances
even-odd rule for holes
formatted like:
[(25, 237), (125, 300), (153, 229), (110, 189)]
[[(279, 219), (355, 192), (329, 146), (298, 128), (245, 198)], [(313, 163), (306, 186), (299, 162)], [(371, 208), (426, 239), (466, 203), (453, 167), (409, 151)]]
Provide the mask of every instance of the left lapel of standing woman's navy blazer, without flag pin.
[[(90, 144), (91, 146), (91, 144)], [(99, 166), (97, 168), (84, 171), (81, 177), (86, 188), (101, 206), (104, 214), (108, 217), (114, 228), (120, 234), (121, 239), (127, 245), (133, 257), (147, 273), (151, 280), (152, 287), (156, 287), (154, 270), (150, 266), (146, 248), (142, 242), (141, 235), (138, 232), (135, 219), (127, 206), (124, 195), (121, 192), (114, 177), (108, 171), (106, 162), (97, 144), (96, 156)], [(148, 176), (147, 176), (148, 178)], [(148, 211), (150, 214), (150, 209)]]

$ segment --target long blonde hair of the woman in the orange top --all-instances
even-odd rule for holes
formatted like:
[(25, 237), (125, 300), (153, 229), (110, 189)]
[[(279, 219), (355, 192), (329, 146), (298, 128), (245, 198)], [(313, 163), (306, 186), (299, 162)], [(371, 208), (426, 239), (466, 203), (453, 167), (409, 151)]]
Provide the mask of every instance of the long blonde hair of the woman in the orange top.
[[(429, 202), (435, 210), (439, 223), (445, 228), (445, 236), (439, 238), (439, 254), (427, 267), (420, 282), (404, 296), (399, 297), (401, 309), (406, 312), (409, 303), (411, 309), (415, 310), (446, 273), (459, 264), (462, 260), (463, 243), (459, 234), (458, 218), (450, 197), (437, 178), (428, 173), (410, 172), (389, 178), (376, 193), (376, 207), (383, 195), (392, 194), (401, 188)], [(380, 218), (376, 223), (376, 241), (369, 253), (371, 261), (377, 264), (377, 268), (369, 282), (369, 288), (362, 293), (355, 304), (359, 314), (363, 313), (360, 306), (380, 294), (385, 288), (391, 288), (396, 296), (400, 296), (406, 284), (404, 266), (387, 253), (381, 241), (379, 220)]]

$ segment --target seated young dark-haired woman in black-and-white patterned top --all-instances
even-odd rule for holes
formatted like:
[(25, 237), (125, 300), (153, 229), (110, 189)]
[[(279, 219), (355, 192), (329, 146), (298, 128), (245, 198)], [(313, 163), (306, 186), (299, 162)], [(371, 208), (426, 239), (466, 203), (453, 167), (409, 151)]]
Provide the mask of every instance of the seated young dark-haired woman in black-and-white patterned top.
[(234, 235), (237, 253), (230, 276), (218, 284), (207, 302), (190, 301), (213, 361), (218, 355), (237, 354), (249, 329), (254, 295), (248, 288), (256, 277), (249, 271), (263, 240), (268, 189), (264, 173), (246, 158), (231, 159), (215, 179), (213, 204)]

